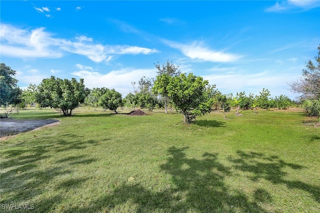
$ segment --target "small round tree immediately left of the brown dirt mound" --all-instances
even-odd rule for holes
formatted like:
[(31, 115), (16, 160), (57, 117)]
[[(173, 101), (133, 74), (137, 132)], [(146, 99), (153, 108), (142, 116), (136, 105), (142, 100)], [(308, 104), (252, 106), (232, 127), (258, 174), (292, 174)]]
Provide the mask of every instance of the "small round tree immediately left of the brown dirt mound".
[(107, 90), (100, 98), (99, 98), (99, 106), (101, 106), (104, 110), (109, 109), (114, 111), (117, 114), (116, 109), (122, 102), (121, 94), (114, 89)]

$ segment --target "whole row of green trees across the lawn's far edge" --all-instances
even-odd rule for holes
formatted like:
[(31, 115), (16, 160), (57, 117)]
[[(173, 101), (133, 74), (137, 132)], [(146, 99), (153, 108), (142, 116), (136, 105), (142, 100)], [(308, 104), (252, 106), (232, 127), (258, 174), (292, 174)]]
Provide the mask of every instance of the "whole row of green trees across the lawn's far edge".
[[(318, 56), (315, 57), (316, 64), (312, 61), (306, 63), (306, 69), (302, 70), (302, 77), (292, 82), (291, 91), (302, 94), (300, 101), (308, 115), (319, 118), (320, 111), (320, 46)], [(79, 82), (72, 78), (60, 79), (51, 76), (43, 79), (36, 86), (30, 84), (26, 89), (17, 87), (17, 80), (14, 78), (16, 71), (0, 64), (1, 70), (1, 97), (2, 107), (24, 108), (26, 105), (36, 104), (37, 107), (51, 107), (57, 109), (65, 116), (70, 116), (72, 110), (80, 104), (93, 107), (109, 109), (117, 113), (118, 107), (141, 108), (152, 111), (154, 108), (164, 108), (165, 113), (169, 110), (179, 111), (183, 115), (185, 123), (189, 123), (196, 116), (209, 113), (212, 109), (229, 111), (231, 107), (236, 108), (235, 115), (241, 115), (239, 110), (257, 108), (287, 109), (295, 104), (285, 95), (271, 98), (268, 89), (262, 89), (259, 95), (245, 92), (238, 92), (235, 96), (232, 93), (222, 94), (215, 85), (209, 85), (207, 80), (192, 73), (181, 73), (179, 66), (172, 62), (154, 64), (157, 69), (155, 78), (141, 77), (132, 82), (133, 92), (128, 93), (124, 98), (114, 89), (93, 88), (84, 86), (84, 80)]]

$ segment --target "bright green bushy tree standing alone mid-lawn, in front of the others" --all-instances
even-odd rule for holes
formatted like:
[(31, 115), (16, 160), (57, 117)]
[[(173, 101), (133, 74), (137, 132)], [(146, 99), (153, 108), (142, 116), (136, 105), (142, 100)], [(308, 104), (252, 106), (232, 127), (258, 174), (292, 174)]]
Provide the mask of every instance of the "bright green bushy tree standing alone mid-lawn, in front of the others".
[(207, 80), (200, 76), (183, 73), (171, 78), (168, 84), (168, 97), (183, 114), (184, 123), (190, 123), (196, 116), (209, 113), (213, 99), (206, 92)]

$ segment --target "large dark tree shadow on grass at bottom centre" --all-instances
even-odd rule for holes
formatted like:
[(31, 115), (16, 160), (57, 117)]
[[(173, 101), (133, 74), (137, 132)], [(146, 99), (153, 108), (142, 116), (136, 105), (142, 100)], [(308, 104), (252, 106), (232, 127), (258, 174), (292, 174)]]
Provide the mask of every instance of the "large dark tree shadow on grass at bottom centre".
[[(147, 189), (139, 183), (124, 183), (113, 192), (100, 196), (87, 207), (70, 212), (251, 212), (266, 213), (256, 201), (249, 201), (241, 191), (230, 191), (224, 179), (230, 168), (218, 162), (218, 154), (204, 153), (199, 159), (187, 158), (188, 147), (170, 147), (160, 170), (171, 176), (164, 189)], [(270, 195), (258, 189), (259, 201), (269, 202)]]

